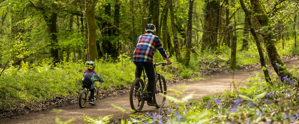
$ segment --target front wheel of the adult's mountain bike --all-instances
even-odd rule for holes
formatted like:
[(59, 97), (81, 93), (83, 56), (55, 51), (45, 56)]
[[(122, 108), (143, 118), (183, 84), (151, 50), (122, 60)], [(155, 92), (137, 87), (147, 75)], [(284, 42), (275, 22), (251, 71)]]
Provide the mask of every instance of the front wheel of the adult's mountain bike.
[(167, 87), (166, 87), (166, 81), (164, 76), (160, 75), (161, 82), (159, 81), (158, 78), (155, 80), (155, 89), (154, 89), (154, 95), (153, 95), (153, 100), (156, 103), (156, 108), (161, 108), (164, 106), (167, 93)]

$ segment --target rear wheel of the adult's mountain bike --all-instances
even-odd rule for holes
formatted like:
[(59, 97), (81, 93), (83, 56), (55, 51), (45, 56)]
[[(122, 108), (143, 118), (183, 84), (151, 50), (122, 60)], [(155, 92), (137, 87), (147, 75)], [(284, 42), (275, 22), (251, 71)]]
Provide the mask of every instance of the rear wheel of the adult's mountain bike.
[[(141, 90), (136, 90), (135, 85), (139, 83)], [(144, 97), (142, 96), (144, 90), (144, 83), (141, 78), (136, 78), (130, 88), (130, 105), (133, 112), (139, 112), (142, 110), (144, 105)]]

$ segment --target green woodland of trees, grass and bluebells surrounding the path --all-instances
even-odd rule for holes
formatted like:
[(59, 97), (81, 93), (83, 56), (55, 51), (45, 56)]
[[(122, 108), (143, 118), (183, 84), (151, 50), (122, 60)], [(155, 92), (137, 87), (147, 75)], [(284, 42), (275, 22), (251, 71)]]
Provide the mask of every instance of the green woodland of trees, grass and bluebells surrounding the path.
[[(0, 0), (1, 117), (57, 97), (76, 99), (86, 61), (98, 64), (96, 72), (105, 80), (100, 89), (131, 84), (137, 37), (152, 23), (173, 61), (164, 69), (168, 80), (198, 80), (204, 69), (254, 63), (263, 69), (248, 89), (223, 94), (225, 106), (205, 97), (194, 102), (190, 116), (216, 106), (220, 112), (211, 108), (196, 114), (208, 113), (216, 123), (259, 122), (279, 108), (270, 122), (295, 122), (298, 110), (289, 108), (298, 108), (298, 98), (290, 97), (298, 95), (298, 71), (286, 68), (281, 57), (299, 54), (298, 5), (298, 0)], [(163, 62), (159, 53), (154, 62)], [(178, 111), (184, 115), (185, 109)], [(221, 113), (231, 109), (235, 114)], [(265, 116), (255, 115), (257, 110)]]

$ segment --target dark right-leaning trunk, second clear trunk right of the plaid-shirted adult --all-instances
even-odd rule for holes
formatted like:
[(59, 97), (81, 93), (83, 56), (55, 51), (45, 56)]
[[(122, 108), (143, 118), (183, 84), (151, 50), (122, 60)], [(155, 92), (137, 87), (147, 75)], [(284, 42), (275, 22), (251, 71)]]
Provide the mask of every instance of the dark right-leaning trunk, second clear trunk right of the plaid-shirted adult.
[(188, 21), (187, 21), (187, 39), (186, 39), (186, 53), (184, 55), (183, 64), (188, 66), (190, 61), (190, 50), (192, 40), (192, 14), (193, 14), (193, 0), (189, 0)]

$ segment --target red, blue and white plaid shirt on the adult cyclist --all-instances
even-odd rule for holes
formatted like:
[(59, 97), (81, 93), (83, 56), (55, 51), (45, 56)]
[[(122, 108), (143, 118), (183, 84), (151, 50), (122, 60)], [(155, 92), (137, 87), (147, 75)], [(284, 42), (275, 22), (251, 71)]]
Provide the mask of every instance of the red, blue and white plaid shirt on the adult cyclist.
[(133, 61), (152, 62), (156, 49), (159, 50), (164, 58), (168, 58), (158, 36), (153, 35), (151, 32), (140, 35), (133, 52)]

